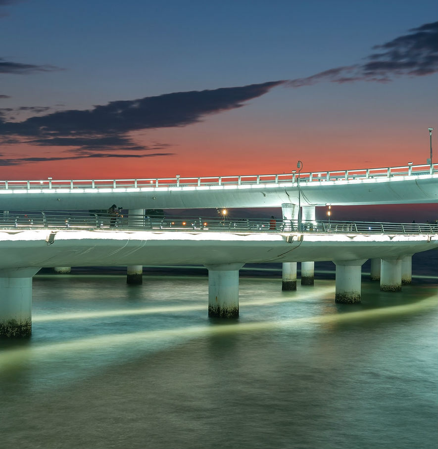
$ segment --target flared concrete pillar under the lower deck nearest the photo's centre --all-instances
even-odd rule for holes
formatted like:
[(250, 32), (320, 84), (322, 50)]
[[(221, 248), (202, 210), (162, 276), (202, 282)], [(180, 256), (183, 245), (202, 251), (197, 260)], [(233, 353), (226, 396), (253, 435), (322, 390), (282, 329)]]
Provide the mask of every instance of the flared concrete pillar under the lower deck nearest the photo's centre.
[(208, 316), (239, 316), (239, 270), (244, 264), (206, 265)]

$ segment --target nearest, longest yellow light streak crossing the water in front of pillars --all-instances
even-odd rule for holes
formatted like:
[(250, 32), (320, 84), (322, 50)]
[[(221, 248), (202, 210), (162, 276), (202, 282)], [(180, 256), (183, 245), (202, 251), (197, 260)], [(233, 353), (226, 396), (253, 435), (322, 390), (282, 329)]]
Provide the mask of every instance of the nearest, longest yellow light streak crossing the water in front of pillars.
[(15, 365), (27, 362), (30, 359), (44, 359), (47, 356), (65, 356), (72, 355), (74, 352), (105, 350), (108, 348), (115, 349), (123, 345), (136, 344), (145, 340), (160, 339), (177, 339), (179, 343), (203, 336), (225, 335), (233, 333), (260, 332), (269, 329), (279, 328), (300, 328), (309, 325), (319, 325), (326, 327), (327, 325), (351, 323), (357, 320), (382, 319), (385, 317), (394, 317), (395, 315), (408, 315), (425, 312), (436, 309), (437, 298), (434, 296), (427, 297), (416, 303), (389, 306), (379, 309), (362, 310), (356, 312), (347, 312), (343, 314), (327, 314), (301, 318), (289, 318), (276, 321), (260, 321), (260, 322), (229, 322), (226, 325), (202, 325), (190, 327), (178, 327), (165, 330), (149, 330), (139, 331), (127, 334), (113, 334), (93, 336), (70, 340), (66, 342), (41, 345), (36, 347), (26, 347), (6, 350), (0, 354), (0, 373), (13, 368)]

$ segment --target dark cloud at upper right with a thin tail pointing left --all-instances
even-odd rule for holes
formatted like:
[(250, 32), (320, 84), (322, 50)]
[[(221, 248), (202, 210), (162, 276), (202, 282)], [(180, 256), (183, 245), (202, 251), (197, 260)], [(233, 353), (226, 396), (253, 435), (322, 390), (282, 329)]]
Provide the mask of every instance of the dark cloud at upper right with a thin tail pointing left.
[(426, 23), (382, 45), (375, 45), (363, 64), (337, 67), (310, 77), (289, 81), (292, 87), (310, 86), (321, 81), (388, 82), (398, 76), (423, 76), (438, 71), (438, 22)]

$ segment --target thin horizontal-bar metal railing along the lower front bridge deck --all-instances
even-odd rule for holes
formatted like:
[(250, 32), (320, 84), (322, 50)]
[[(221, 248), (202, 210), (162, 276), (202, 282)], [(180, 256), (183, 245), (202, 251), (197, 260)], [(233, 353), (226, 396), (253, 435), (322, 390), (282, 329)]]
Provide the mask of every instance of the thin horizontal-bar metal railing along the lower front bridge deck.
[(303, 232), (342, 234), (438, 234), (437, 223), (375, 223), (296, 220), (219, 218), (219, 217), (149, 217), (126, 214), (69, 212), (9, 212), (0, 216), (0, 229), (71, 229), (71, 230), (163, 230), (215, 232)]

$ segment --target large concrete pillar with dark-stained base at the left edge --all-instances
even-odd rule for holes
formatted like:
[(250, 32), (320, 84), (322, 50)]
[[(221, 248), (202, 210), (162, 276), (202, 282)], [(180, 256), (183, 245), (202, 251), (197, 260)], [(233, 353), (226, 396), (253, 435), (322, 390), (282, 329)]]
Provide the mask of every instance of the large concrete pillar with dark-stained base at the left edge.
[(0, 336), (32, 333), (32, 276), (39, 268), (0, 270)]

